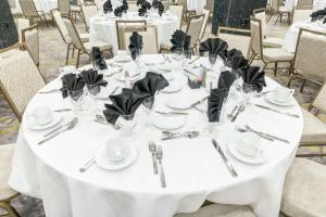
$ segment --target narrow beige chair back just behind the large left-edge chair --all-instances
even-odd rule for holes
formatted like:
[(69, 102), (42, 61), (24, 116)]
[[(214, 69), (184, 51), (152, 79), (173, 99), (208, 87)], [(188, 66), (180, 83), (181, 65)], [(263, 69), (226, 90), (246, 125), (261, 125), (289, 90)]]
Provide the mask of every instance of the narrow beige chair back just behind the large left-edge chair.
[(23, 42), (28, 50), (34, 63), (39, 65), (39, 39), (37, 25), (33, 25), (22, 30)]

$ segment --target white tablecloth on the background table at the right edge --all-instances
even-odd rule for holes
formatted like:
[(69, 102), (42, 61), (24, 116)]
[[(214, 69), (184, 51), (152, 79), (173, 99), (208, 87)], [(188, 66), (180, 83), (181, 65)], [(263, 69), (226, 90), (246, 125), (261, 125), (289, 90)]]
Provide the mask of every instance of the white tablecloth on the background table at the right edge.
[(326, 25), (321, 22), (297, 22), (290, 26), (283, 42), (283, 49), (294, 52), (300, 28), (309, 28), (317, 31), (326, 33)]

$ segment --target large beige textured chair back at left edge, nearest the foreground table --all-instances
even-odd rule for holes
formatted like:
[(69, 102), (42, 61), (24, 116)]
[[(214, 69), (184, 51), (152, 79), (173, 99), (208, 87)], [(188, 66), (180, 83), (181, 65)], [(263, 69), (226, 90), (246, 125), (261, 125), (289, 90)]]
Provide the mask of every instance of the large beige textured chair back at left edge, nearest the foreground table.
[(46, 85), (27, 51), (14, 50), (0, 62), (0, 89), (21, 122), (26, 105)]

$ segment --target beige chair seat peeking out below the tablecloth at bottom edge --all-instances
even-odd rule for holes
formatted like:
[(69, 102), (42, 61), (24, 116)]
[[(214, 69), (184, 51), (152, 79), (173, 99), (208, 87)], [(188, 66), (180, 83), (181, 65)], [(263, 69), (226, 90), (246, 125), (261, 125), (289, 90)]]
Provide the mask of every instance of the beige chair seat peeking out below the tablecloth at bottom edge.
[(255, 217), (249, 206), (211, 204), (189, 214), (177, 214), (174, 217)]

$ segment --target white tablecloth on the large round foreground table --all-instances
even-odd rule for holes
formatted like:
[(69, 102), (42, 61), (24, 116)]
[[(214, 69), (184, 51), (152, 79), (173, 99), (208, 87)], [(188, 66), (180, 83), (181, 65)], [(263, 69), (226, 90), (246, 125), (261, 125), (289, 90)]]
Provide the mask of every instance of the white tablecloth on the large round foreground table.
[[(156, 54), (146, 55), (143, 60), (147, 63), (159, 63), (164, 59)], [(200, 63), (208, 64), (208, 60), (200, 59), (195, 64)], [(133, 64), (129, 63), (126, 67), (131, 67)], [(173, 68), (168, 74), (183, 85), (183, 90), (177, 93), (161, 92), (155, 107), (165, 107), (165, 101), (176, 97), (196, 102), (205, 92), (203, 89), (190, 89), (180, 67)], [(115, 76), (108, 80), (106, 89), (110, 90), (123, 85)], [(271, 78), (266, 78), (266, 82), (265, 90), (279, 86)], [(55, 79), (42, 90), (60, 87), (60, 80)], [(238, 104), (236, 99), (235, 95), (229, 97), (227, 113)], [(84, 174), (78, 171), (103, 141), (118, 136), (111, 126), (95, 123), (91, 118), (80, 118), (73, 130), (38, 145), (37, 142), (51, 129), (29, 130), (25, 115), (15, 145), (10, 186), (18, 192), (42, 199), (47, 217), (172, 217), (176, 213), (195, 212), (205, 200), (250, 205), (258, 216), (276, 217), (285, 175), (296, 155), (302, 133), (302, 114), (294, 100), (294, 105), (290, 107), (269, 104), (263, 97), (254, 98), (252, 102), (291, 112), (300, 117), (284, 116), (252, 105), (234, 124), (226, 120), (220, 126), (215, 139), (237, 170), (237, 178), (230, 176), (212, 145), (211, 138), (200, 135), (195, 139), (161, 141), (160, 129), (153, 126), (141, 128), (143, 112), (139, 107), (135, 117), (138, 125), (131, 141), (131, 145), (138, 150), (138, 157), (133, 165), (118, 171), (103, 170), (97, 165)], [(40, 105), (48, 105), (53, 110), (71, 106), (68, 100), (63, 100), (60, 93), (38, 93), (29, 102), (25, 114)], [(187, 112), (187, 124), (179, 130), (201, 130), (205, 126), (205, 113), (197, 108)], [(62, 115), (65, 123), (72, 119), (73, 113)], [(261, 165), (241, 163), (233, 157), (226, 145), (236, 142), (233, 139), (239, 137), (234, 125), (244, 124), (287, 139), (290, 143), (262, 140), (267, 162)], [(159, 176), (153, 175), (152, 158), (148, 150), (150, 140), (162, 145), (166, 189), (161, 188)]]

